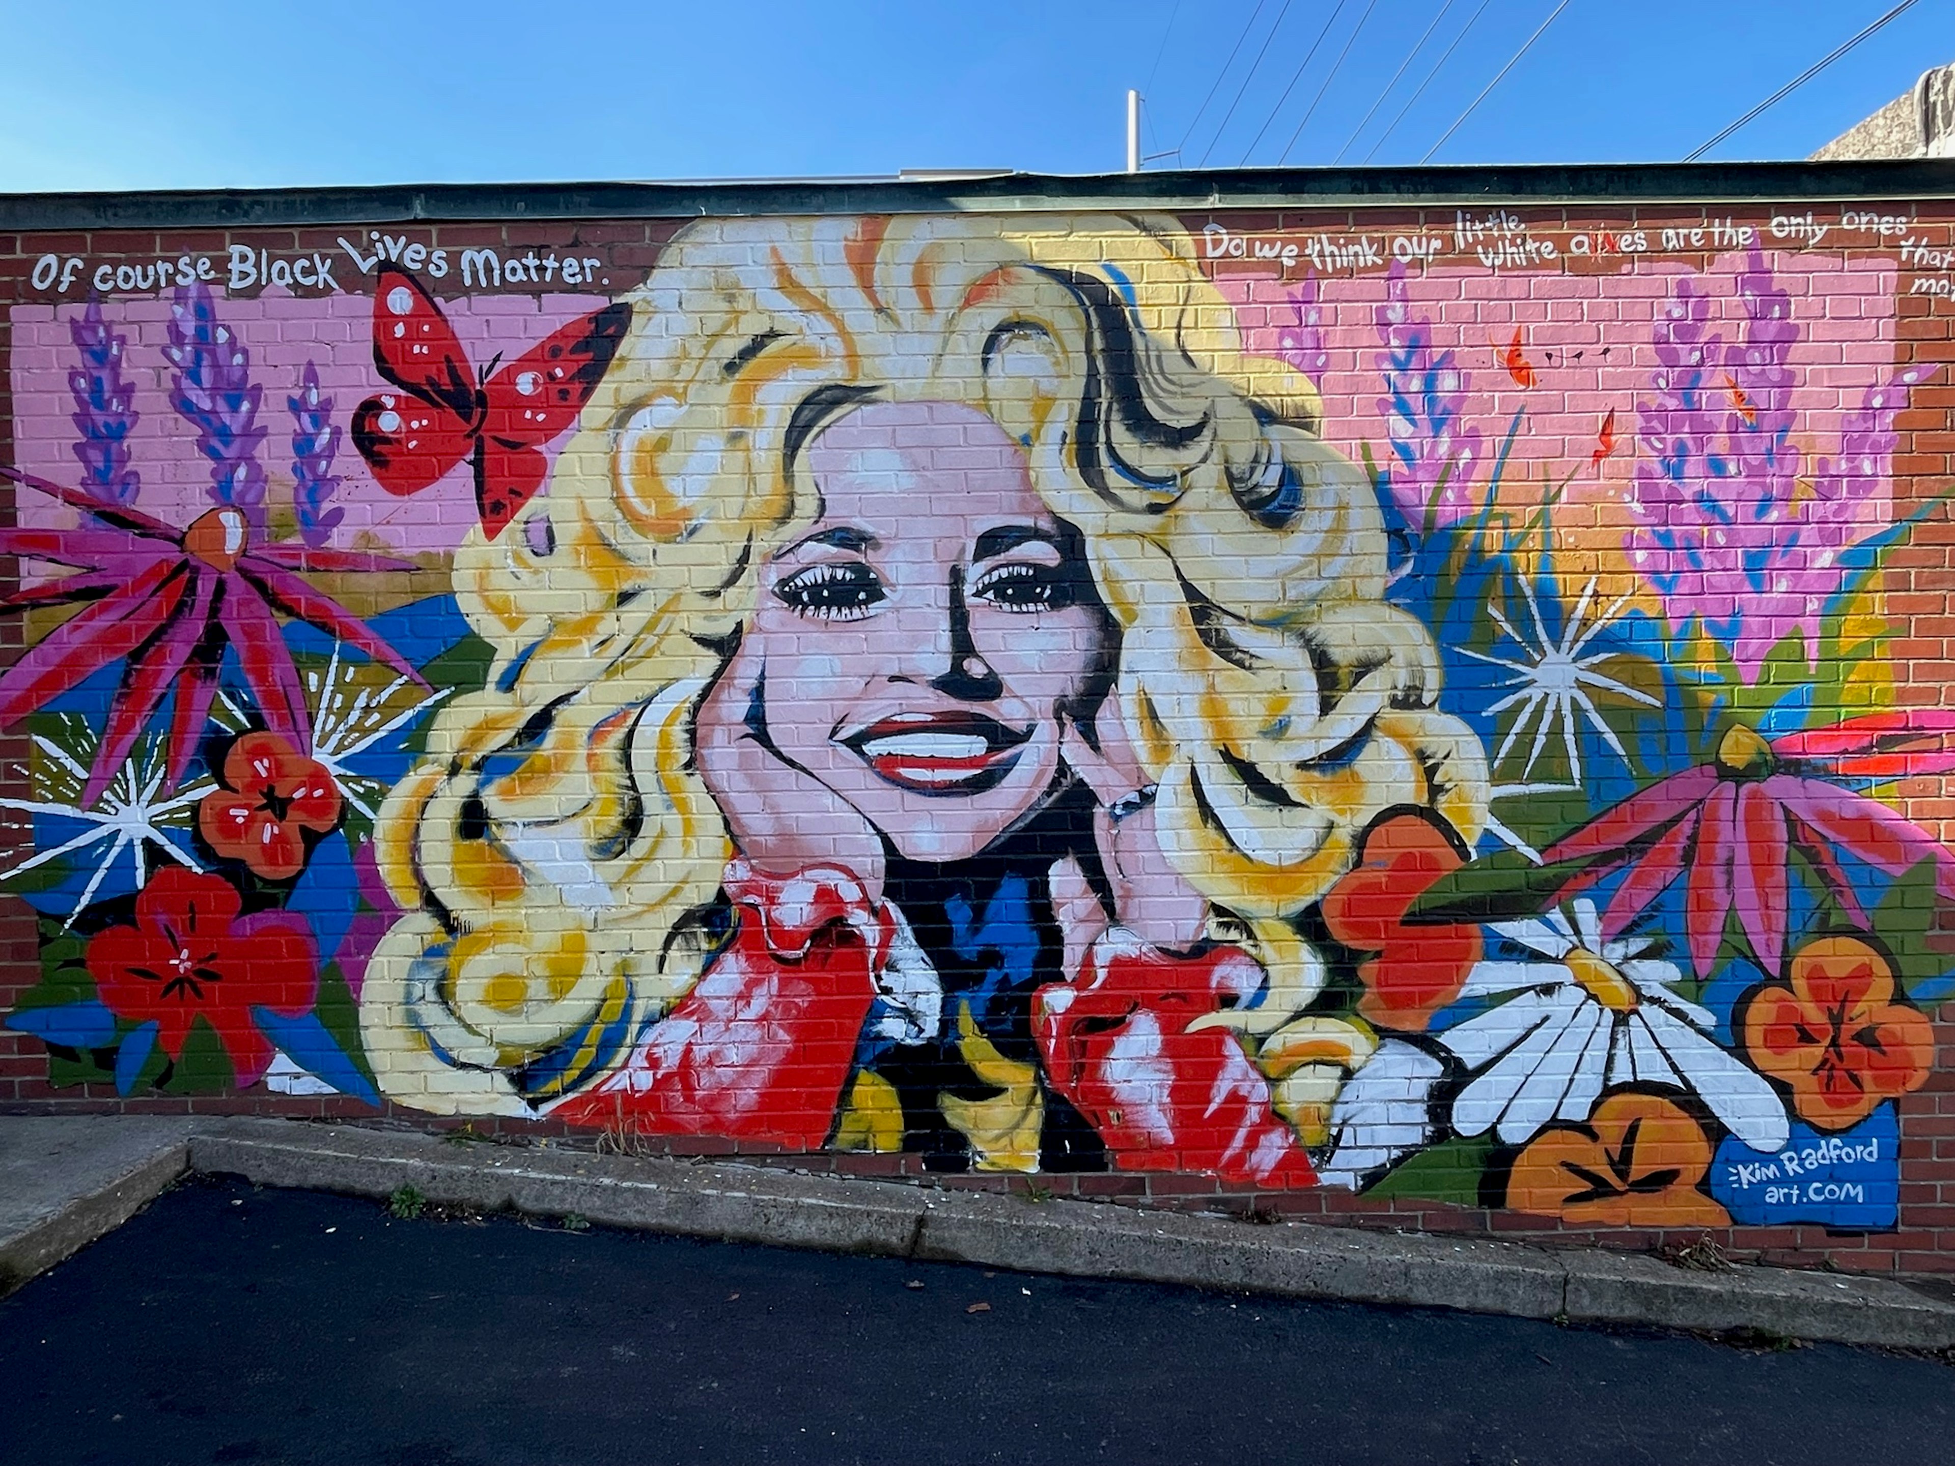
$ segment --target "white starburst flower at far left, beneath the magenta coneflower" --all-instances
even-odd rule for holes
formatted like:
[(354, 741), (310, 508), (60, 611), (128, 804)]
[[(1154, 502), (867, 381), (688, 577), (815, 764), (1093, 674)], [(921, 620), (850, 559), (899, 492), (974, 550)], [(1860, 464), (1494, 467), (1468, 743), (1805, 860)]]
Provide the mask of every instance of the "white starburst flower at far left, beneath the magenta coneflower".
[[(188, 850), (188, 829), (196, 819), (197, 801), (213, 786), (209, 780), (196, 780), (164, 798), (168, 758), (162, 739), (137, 739), (135, 749), (115, 770), (102, 798), (88, 807), (82, 807), (82, 792), (88, 788), (88, 766), (96, 756), (96, 735), (84, 719), (63, 713), (55, 723), (55, 737), (33, 735), (33, 755), (27, 778), (35, 798), (0, 798), (0, 809), (70, 819), (84, 829), (61, 844), (33, 850), (23, 860), (0, 870), (0, 884), (63, 858), (92, 862), (88, 884), (68, 909), (63, 928), (70, 927), (82, 909), (96, 899), (96, 891), (102, 889), (115, 862), (123, 856), (131, 860), (135, 889), (143, 889), (149, 882), (151, 846), (180, 866), (203, 870)], [(33, 833), (31, 823), (12, 825), (12, 829)], [(178, 831), (182, 842), (172, 839), (170, 831)], [(154, 864), (160, 866), (160, 860)]]

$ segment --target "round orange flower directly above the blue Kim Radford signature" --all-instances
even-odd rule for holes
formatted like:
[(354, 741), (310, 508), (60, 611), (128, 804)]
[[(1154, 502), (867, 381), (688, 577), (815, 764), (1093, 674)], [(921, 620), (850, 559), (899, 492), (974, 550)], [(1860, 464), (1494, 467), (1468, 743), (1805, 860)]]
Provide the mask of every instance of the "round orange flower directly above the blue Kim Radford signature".
[(1744, 1046), (1816, 1130), (1859, 1124), (1881, 1100), (1920, 1089), (1935, 1061), (1933, 1026), (1894, 1003), (1894, 970), (1861, 936), (1799, 948), (1787, 981), (1760, 987), (1746, 1007)]

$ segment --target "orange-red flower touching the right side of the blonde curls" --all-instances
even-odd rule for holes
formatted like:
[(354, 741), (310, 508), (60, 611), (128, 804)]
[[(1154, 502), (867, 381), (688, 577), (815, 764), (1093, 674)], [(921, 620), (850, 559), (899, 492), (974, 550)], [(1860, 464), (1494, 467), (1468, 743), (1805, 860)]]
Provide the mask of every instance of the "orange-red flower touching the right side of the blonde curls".
[(1476, 925), (1406, 925), (1406, 909), (1464, 864), (1466, 850), (1439, 815), (1398, 811), (1365, 831), (1357, 868), (1325, 893), (1331, 936), (1372, 954), (1357, 970), (1365, 983), (1357, 1011), (1380, 1028), (1423, 1030), (1480, 960)]

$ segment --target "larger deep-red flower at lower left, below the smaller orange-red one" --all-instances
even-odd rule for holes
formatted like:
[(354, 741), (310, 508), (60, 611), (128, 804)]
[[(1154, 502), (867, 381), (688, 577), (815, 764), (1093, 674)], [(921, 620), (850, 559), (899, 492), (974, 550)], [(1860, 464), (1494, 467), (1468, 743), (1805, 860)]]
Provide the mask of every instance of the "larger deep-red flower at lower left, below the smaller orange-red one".
[(313, 938), (299, 917), (264, 911), (239, 921), (239, 893), (217, 876), (170, 866), (135, 899), (135, 927), (109, 927), (88, 944), (88, 973), (123, 1018), (156, 1024), (172, 1059), (190, 1026), (217, 1030), (239, 1087), (272, 1063), (272, 1040), (254, 1007), (287, 1018), (311, 1011), (319, 991)]

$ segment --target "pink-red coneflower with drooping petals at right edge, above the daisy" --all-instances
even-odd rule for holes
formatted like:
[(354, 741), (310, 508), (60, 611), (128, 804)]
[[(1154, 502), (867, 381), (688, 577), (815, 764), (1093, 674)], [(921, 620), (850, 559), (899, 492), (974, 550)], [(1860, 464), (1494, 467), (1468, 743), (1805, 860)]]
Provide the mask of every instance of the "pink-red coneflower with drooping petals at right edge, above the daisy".
[(1785, 966), (1787, 854), (1799, 850), (1834, 901), (1861, 927), (1853, 882), (1836, 850), (1900, 876), (1922, 860), (1955, 899), (1955, 854), (1879, 799), (1828, 778), (1894, 780), (1955, 768), (1955, 713), (1910, 710), (1851, 717), (1769, 743), (1744, 725), (1724, 733), (1716, 758), (1652, 784), (1548, 846), (1546, 860), (1595, 864), (1576, 884), (1629, 866), (1603, 913), (1615, 936), (1689, 872), (1685, 923), (1699, 977), (1716, 966), (1732, 907), (1765, 971)]

